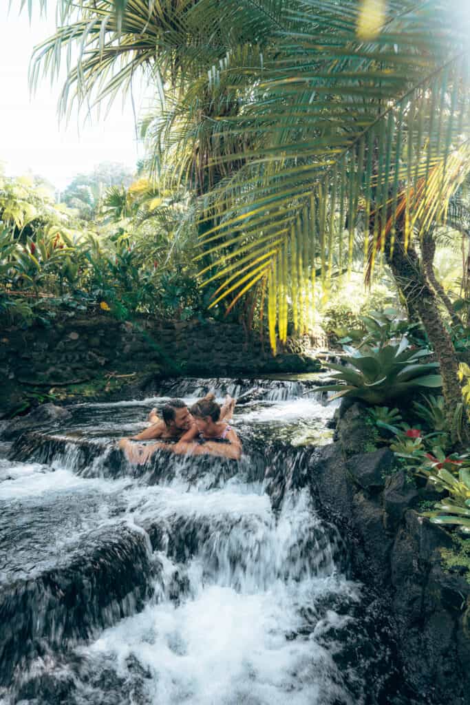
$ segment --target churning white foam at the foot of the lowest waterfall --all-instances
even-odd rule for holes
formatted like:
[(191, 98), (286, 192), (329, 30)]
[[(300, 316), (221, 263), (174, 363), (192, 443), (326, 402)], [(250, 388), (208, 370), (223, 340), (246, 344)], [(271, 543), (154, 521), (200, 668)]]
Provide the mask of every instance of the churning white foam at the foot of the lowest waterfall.
[[(137, 658), (151, 675), (154, 705), (324, 705), (327, 692), (328, 701), (341, 694), (352, 704), (333, 684), (337, 669), (313, 635), (286, 639), (302, 627), (299, 602), (340, 589), (347, 584), (330, 579), (251, 595), (212, 585), (179, 606), (147, 606), (82, 651), (106, 656), (123, 677), (128, 658)], [(328, 619), (340, 620), (333, 611)]]

